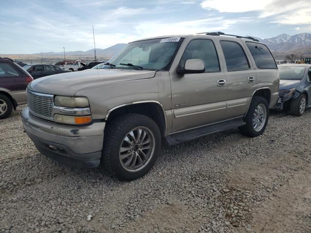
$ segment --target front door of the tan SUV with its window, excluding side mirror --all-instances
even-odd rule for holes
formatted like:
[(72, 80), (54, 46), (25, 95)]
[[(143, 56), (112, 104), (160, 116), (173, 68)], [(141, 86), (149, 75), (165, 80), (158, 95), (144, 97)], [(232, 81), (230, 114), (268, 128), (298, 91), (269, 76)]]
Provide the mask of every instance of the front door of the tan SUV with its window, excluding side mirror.
[(191, 40), (181, 57), (179, 66), (183, 67), (188, 59), (203, 60), (205, 73), (184, 75), (179, 75), (176, 71), (170, 73), (172, 133), (225, 119), (226, 77), (221, 71), (213, 41)]

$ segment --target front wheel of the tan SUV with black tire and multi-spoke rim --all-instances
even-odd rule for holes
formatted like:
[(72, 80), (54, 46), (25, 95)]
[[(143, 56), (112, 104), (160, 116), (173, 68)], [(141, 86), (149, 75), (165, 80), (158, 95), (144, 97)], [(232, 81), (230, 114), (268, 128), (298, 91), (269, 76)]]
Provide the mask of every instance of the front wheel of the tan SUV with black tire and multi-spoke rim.
[(120, 180), (135, 180), (155, 165), (160, 148), (161, 133), (155, 121), (140, 114), (125, 114), (107, 125), (102, 163)]

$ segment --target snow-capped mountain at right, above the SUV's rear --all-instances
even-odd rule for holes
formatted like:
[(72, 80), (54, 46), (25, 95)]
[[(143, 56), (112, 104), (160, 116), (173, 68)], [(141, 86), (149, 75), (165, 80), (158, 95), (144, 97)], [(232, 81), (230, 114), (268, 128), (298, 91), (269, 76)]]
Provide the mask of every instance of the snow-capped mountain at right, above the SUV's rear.
[(311, 33), (300, 33), (296, 35), (280, 34), (276, 37), (266, 39), (255, 38), (266, 44), (270, 50), (276, 52), (286, 52), (297, 49), (311, 50)]

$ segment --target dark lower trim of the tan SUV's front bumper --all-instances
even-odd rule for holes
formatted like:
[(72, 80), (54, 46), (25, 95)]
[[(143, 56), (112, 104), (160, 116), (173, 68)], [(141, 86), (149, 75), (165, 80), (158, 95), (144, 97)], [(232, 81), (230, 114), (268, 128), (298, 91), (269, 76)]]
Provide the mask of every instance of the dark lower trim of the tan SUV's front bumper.
[(77, 154), (72, 152), (72, 150), (65, 145), (44, 140), (29, 132), (26, 133), (34, 142), (35, 147), (41, 154), (44, 154), (61, 164), (66, 164), (76, 168), (91, 168), (100, 165), (102, 151)]

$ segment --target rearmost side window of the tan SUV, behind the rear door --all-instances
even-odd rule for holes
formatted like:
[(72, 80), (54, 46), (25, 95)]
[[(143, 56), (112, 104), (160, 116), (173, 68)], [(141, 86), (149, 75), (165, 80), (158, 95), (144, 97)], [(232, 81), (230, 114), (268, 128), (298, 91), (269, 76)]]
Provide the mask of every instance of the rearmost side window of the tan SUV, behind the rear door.
[(246, 42), (246, 45), (259, 69), (276, 69), (276, 62), (265, 45), (253, 42)]

